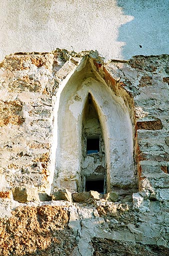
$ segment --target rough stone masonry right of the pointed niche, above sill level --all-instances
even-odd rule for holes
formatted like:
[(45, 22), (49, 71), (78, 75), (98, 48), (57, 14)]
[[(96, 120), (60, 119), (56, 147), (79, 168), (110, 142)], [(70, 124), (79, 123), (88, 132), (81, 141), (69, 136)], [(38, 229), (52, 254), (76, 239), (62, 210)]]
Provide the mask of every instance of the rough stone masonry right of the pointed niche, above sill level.
[(133, 95), (140, 188), (160, 193), (168, 188), (168, 55), (135, 56), (107, 66)]

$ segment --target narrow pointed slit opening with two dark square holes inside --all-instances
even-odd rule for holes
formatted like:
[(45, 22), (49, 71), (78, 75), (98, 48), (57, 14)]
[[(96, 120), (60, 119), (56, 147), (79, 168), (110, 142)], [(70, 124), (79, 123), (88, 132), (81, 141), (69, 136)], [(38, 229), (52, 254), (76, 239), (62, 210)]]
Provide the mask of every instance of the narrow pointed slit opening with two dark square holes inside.
[(82, 118), (82, 191), (106, 192), (105, 154), (102, 129), (96, 104), (88, 93)]

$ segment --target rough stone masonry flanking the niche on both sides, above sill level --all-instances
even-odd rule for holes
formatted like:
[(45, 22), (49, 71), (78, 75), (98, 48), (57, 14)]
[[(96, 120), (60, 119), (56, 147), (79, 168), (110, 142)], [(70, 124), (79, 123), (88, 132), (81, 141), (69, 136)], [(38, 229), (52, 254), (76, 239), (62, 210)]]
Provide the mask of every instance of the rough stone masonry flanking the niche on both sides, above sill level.
[(58, 88), (84, 55), (95, 56), (95, 72), (128, 108), (140, 189), (158, 188), (160, 194), (168, 188), (168, 56), (136, 56), (102, 65), (93, 52), (72, 56), (56, 51), (11, 55), (1, 63), (1, 190), (33, 184), (50, 192), (57, 91), (59, 95)]

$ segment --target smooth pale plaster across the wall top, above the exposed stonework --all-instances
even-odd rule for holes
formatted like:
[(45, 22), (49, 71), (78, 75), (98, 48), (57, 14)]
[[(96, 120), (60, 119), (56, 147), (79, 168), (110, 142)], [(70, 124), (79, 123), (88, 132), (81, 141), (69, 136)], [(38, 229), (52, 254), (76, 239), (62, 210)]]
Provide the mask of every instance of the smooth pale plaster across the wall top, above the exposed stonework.
[(0, 1), (0, 61), (15, 52), (97, 50), (108, 59), (169, 53), (168, 0)]

